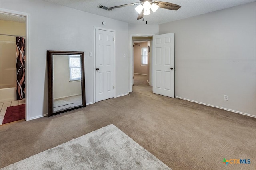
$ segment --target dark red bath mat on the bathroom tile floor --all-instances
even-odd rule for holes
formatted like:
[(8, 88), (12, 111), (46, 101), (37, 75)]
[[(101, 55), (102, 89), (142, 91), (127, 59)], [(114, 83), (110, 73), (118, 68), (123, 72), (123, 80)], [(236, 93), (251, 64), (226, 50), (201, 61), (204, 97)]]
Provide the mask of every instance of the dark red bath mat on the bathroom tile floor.
[(7, 107), (2, 124), (25, 119), (25, 104)]

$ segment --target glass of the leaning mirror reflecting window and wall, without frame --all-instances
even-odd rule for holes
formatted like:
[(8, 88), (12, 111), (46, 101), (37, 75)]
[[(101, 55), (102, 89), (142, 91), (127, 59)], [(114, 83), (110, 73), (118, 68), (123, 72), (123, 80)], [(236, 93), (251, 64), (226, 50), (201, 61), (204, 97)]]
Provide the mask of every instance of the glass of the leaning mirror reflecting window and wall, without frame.
[(52, 55), (53, 111), (82, 105), (81, 55)]

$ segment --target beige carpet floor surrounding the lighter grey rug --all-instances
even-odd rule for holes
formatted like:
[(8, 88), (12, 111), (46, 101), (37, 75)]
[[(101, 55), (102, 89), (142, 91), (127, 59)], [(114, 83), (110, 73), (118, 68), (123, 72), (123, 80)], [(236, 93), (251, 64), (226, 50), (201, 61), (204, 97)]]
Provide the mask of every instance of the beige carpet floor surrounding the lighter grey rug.
[[(173, 170), (252, 170), (256, 119), (152, 93), (134, 75), (134, 92), (54, 117), (0, 127), (0, 167), (114, 124)], [(250, 159), (250, 164), (222, 163)]]

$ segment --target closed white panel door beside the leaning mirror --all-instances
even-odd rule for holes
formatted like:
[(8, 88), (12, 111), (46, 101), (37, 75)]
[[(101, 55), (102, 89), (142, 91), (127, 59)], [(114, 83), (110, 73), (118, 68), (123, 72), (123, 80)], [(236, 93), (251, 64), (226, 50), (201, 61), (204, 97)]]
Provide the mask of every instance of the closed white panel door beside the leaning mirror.
[(114, 97), (114, 32), (95, 30), (95, 101)]

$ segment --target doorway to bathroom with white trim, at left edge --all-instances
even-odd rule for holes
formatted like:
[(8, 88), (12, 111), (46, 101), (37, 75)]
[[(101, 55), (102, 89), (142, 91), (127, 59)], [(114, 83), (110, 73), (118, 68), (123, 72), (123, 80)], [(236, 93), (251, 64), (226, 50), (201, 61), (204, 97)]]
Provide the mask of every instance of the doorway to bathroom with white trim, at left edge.
[(0, 55), (0, 124), (2, 125), (2, 123), (10, 123), (20, 119), (30, 120), (28, 107), (30, 14), (1, 9), (0, 15), (2, 49)]

